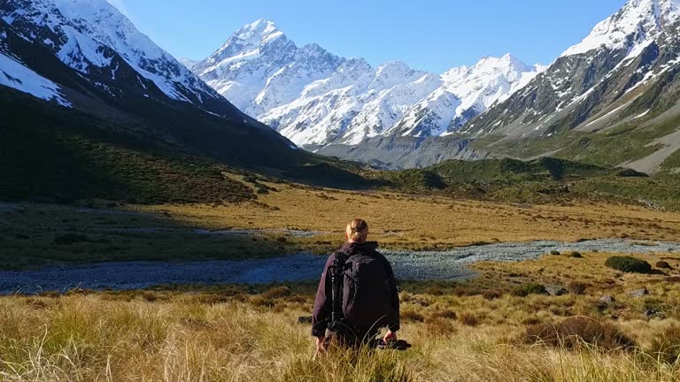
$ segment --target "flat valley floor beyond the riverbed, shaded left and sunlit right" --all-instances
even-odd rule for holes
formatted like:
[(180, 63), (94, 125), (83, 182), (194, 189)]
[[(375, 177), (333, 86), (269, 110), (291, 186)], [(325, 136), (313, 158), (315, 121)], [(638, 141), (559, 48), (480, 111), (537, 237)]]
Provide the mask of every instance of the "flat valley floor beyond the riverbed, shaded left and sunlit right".
[(342, 244), (344, 225), (357, 217), (367, 219), (371, 240), (393, 251), (616, 238), (680, 241), (680, 213), (623, 203), (495, 203), (264, 181), (251, 187), (256, 200), (228, 204), (0, 204), (0, 270), (324, 255)]

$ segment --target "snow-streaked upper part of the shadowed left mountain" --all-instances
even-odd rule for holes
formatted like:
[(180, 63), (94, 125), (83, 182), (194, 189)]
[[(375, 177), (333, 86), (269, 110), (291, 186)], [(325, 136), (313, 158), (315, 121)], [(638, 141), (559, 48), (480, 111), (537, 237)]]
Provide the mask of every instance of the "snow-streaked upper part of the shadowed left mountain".
[[(4, 0), (0, 18), (109, 95), (122, 97), (131, 88), (143, 91), (151, 86), (171, 100), (243, 119), (224, 97), (140, 33), (106, 0)], [(4, 67), (5, 73), (11, 70)]]

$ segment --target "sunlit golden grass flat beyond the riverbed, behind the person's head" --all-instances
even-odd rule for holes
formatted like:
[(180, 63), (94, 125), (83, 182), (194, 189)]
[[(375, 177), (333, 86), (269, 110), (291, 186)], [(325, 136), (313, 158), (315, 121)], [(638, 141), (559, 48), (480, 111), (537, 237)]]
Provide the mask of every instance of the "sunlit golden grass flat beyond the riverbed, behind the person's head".
[(344, 224), (367, 218), (372, 237), (390, 248), (447, 248), (482, 242), (630, 237), (673, 240), (680, 213), (629, 205), (575, 202), (521, 206), (390, 193), (360, 193), (298, 185), (276, 189), (258, 202), (232, 205), (134, 206), (167, 212), (182, 224), (211, 229), (295, 228), (325, 233), (307, 244), (342, 241)]

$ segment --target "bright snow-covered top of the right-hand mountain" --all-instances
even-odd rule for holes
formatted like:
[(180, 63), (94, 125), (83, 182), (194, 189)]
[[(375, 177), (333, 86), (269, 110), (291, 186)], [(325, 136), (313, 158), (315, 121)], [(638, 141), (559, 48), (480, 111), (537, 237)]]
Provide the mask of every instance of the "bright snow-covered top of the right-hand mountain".
[(591, 34), (562, 53), (561, 57), (602, 47), (609, 50), (635, 50), (653, 41), (678, 19), (678, 0), (629, 0), (621, 10), (600, 22)]

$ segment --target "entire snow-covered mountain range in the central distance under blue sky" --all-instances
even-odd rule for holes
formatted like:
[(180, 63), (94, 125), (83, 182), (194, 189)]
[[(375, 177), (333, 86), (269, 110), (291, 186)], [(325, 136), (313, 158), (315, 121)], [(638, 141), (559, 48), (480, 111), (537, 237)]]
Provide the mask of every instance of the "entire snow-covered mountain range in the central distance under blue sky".
[(541, 67), (507, 55), (441, 75), (400, 62), (374, 68), (316, 44), (298, 48), (260, 19), (192, 70), (242, 111), (316, 148), (377, 135), (447, 134), (522, 88)]

